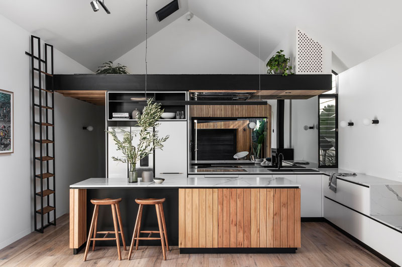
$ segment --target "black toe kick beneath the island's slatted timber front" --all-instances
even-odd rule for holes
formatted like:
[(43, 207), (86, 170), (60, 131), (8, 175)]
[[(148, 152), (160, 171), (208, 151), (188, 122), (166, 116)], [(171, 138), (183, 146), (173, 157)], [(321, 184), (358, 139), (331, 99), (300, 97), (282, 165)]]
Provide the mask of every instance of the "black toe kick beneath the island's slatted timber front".
[(296, 253), (296, 247), (180, 247), (180, 254)]

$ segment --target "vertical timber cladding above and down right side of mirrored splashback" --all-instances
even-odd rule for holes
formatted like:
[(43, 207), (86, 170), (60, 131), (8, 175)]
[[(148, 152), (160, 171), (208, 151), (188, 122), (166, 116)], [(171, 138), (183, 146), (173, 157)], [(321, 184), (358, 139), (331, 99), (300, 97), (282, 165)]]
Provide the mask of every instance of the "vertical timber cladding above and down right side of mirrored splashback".
[[(266, 155), (271, 156), (272, 113), (271, 105), (195, 105), (190, 116), (200, 118), (267, 118)], [(248, 151), (249, 148), (240, 151)]]

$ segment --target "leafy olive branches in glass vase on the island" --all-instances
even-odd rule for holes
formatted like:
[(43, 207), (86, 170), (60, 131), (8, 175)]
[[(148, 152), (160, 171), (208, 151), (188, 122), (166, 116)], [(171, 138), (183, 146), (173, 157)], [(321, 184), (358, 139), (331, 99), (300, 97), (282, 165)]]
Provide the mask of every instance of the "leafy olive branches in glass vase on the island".
[(107, 131), (110, 135), (112, 135), (113, 140), (117, 145), (117, 150), (122, 151), (124, 155), (123, 157), (112, 157), (112, 159), (123, 163), (129, 163), (130, 183), (138, 181), (136, 163), (149, 154), (152, 154), (155, 149), (162, 149), (163, 142), (169, 138), (168, 135), (159, 138), (158, 131), (149, 131), (150, 128), (157, 128), (159, 126), (158, 120), (164, 111), (161, 109), (160, 103), (152, 102), (153, 98), (147, 100), (147, 105), (143, 109), (142, 115), (138, 117), (137, 124), (141, 127), (138, 145), (133, 145), (133, 138), (137, 136), (136, 132), (131, 133), (121, 129), (123, 132), (123, 140), (119, 140), (115, 129)]

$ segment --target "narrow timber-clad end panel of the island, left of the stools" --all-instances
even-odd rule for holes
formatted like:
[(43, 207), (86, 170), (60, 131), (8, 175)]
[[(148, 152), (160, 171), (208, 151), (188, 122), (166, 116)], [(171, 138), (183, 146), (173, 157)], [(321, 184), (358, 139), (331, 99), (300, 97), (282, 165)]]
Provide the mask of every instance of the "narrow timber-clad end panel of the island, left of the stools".
[(86, 241), (86, 189), (70, 189), (70, 248)]

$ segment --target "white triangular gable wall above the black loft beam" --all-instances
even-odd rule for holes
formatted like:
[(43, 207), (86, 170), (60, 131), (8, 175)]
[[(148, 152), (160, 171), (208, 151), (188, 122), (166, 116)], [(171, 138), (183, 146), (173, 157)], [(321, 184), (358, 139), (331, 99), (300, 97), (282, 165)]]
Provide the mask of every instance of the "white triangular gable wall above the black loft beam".
[[(181, 17), (148, 39), (149, 74), (258, 74), (264, 62), (196, 16)], [(145, 42), (114, 60), (145, 73)]]

